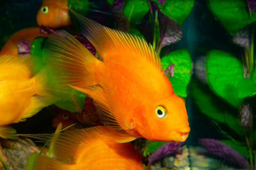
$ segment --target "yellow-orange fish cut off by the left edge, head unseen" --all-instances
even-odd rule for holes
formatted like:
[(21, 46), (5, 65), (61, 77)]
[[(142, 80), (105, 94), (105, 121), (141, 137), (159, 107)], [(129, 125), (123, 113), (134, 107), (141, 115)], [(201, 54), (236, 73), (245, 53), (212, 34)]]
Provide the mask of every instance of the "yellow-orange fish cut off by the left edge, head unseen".
[(44, 67), (35, 74), (33, 67), (43, 61), (31, 56), (0, 57), (0, 137), (14, 138), (8, 124), (25, 121), (42, 108), (54, 103), (52, 81)]

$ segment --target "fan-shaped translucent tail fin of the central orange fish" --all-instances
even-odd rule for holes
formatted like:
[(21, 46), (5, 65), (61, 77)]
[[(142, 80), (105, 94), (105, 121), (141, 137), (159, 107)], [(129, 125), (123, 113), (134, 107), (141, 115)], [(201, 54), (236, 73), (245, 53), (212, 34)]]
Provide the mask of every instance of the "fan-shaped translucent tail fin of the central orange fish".
[(67, 85), (85, 88), (96, 84), (95, 67), (101, 61), (66, 31), (57, 31), (49, 37), (43, 59), (62, 88), (68, 88)]

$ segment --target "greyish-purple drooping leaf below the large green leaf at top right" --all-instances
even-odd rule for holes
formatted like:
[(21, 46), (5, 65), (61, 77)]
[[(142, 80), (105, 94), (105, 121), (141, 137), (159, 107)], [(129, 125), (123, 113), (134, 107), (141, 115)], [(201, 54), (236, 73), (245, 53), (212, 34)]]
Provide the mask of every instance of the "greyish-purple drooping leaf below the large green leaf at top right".
[(249, 28), (245, 27), (240, 31), (238, 31), (232, 38), (232, 41), (234, 44), (238, 46), (242, 46), (242, 47), (245, 47), (246, 49), (249, 49), (250, 47)]

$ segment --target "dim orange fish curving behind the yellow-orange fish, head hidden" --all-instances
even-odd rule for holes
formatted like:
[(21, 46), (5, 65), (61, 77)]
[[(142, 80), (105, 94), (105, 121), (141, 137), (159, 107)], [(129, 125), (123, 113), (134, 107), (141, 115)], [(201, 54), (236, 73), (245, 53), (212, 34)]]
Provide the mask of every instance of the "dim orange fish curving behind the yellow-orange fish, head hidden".
[(0, 55), (17, 55), (17, 45), (21, 39), (32, 42), (36, 37), (49, 37), (49, 34), (40, 34), (39, 27), (25, 28), (15, 32), (10, 39), (4, 44)]

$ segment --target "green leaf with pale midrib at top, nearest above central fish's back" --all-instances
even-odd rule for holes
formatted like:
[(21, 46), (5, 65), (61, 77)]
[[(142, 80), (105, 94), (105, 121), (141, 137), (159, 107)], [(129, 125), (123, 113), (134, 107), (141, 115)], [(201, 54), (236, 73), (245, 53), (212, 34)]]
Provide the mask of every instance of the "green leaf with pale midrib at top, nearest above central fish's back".
[(139, 23), (148, 10), (147, 0), (124, 0), (123, 13), (133, 26)]

